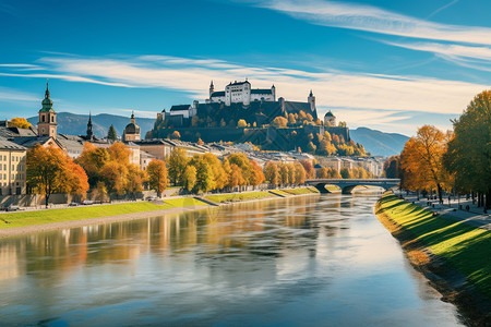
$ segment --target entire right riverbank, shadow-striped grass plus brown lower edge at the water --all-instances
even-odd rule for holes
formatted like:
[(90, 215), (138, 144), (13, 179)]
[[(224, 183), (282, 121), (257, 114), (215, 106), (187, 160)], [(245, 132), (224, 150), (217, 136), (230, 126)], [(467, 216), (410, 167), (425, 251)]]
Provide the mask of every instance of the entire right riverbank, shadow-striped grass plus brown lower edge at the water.
[(412, 266), (454, 303), (470, 326), (491, 324), (491, 232), (386, 192), (375, 214)]

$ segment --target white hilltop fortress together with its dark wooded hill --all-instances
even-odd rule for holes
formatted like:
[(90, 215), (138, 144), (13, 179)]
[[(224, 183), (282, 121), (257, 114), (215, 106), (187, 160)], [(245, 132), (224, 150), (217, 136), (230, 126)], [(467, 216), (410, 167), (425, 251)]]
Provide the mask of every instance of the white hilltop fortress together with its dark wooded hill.
[[(251, 142), (263, 149), (289, 150), (302, 148), (312, 135), (325, 131), (349, 142), (346, 126), (336, 126), (330, 111), (324, 121), (318, 117), (312, 90), (307, 101), (276, 98), (276, 87), (252, 88), (249, 81), (233, 82), (225, 90), (215, 90), (213, 81), (209, 97), (192, 105), (177, 105), (157, 113), (154, 129), (145, 138), (166, 138), (179, 133), (182, 141)], [(310, 135), (311, 134), (311, 135)]]

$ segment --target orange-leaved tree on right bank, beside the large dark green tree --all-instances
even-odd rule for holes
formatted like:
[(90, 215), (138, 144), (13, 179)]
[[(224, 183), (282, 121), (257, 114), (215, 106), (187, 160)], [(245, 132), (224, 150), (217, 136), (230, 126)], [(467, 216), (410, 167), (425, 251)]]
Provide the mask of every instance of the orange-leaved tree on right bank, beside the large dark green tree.
[(443, 167), (446, 152), (446, 135), (432, 125), (420, 128), (409, 138), (400, 154), (400, 167), (405, 171), (404, 182), (409, 190), (436, 190), (443, 201), (443, 189), (450, 185), (450, 177)]

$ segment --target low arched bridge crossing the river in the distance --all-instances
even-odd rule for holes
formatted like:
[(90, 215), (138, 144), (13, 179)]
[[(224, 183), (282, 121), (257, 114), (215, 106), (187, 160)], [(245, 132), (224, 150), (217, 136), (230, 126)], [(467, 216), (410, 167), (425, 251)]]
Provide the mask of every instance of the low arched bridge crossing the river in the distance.
[(356, 186), (379, 186), (384, 190), (390, 190), (399, 184), (399, 179), (347, 179), (347, 180), (335, 180), (335, 179), (324, 179), (324, 180), (306, 180), (306, 184), (314, 186), (321, 193), (331, 193), (325, 189), (325, 185), (336, 185), (342, 189), (343, 194), (351, 194), (352, 189)]

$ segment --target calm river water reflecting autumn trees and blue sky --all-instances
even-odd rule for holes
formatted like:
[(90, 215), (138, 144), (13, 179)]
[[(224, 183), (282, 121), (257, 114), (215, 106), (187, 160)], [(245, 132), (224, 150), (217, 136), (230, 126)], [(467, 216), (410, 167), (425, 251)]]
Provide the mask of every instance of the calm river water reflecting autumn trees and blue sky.
[(376, 220), (299, 196), (0, 240), (0, 325), (458, 326)]

